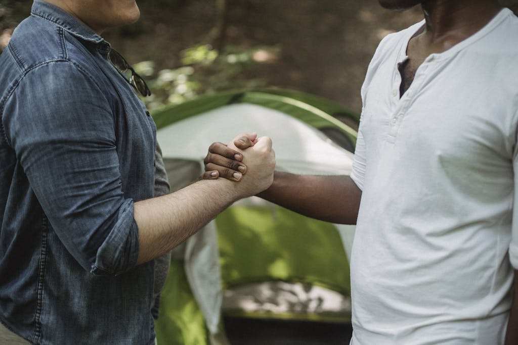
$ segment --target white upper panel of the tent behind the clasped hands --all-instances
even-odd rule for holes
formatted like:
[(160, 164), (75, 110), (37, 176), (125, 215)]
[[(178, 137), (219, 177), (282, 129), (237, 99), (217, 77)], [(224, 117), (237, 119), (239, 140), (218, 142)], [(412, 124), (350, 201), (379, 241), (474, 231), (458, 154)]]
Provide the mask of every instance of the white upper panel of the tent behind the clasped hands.
[(211, 143), (229, 142), (242, 132), (272, 139), (278, 170), (299, 174), (351, 172), (352, 153), (297, 118), (256, 104), (231, 104), (183, 119), (157, 131), (157, 140), (164, 158), (203, 161)]

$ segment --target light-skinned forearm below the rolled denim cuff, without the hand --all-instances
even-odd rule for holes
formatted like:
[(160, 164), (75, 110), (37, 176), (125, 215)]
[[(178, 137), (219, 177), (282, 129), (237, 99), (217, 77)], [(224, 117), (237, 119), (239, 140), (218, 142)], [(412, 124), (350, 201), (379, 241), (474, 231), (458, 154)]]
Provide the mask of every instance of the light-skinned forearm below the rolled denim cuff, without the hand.
[(137, 264), (153, 260), (185, 241), (239, 199), (225, 179), (199, 181), (175, 193), (134, 204), (138, 226)]

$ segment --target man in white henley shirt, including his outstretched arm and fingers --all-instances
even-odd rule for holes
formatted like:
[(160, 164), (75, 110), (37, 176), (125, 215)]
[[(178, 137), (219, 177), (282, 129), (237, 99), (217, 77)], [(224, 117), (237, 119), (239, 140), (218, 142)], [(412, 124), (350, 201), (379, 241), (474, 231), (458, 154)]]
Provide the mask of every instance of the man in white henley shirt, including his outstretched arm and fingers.
[[(351, 176), (276, 172), (260, 196), (357, 223), (352, 344), (517, 344), (518, 19), (496, 0), (380, 3), (425, 20), (372, 58)], [(232, 174), (221, 156), (249, 145), (214, 144), (206, 170)]]

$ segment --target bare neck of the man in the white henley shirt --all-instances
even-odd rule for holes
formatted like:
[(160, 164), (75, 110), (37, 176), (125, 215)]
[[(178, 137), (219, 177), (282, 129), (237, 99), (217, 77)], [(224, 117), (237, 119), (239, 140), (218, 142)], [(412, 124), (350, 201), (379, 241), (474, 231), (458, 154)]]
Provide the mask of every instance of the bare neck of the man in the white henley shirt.
[(423, 35), (430, 44), (462, 41), (502, 8), (498, 0), (424, 0), (421, 6), (426, 20)]

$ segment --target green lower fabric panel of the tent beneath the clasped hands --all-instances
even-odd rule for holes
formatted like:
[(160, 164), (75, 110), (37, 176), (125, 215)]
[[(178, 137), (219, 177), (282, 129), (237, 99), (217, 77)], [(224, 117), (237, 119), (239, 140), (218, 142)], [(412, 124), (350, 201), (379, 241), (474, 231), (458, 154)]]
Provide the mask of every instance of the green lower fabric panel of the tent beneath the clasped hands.
[[(282, 280), (316, 282), (345, 296), (351, 294), (346, 253), (334, 224), (269, 203), (234, 205), (215, 222), (223, 288)], [(268, 236), (272, 233), (275, 236)]]

